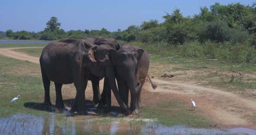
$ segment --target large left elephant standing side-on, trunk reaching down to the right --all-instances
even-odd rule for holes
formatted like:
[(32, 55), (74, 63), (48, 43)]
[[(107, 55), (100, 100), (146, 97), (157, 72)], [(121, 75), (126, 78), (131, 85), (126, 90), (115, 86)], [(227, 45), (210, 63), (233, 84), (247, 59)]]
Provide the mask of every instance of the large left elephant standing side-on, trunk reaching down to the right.
[[(98, 49), (98, 55), (95, 54), (96, 49)], [(55, 84), (57, 107), (64, 107), (61, 93), (62, 84), (74, 83), (77, 112), (79, 114), (87, 114), (83, 110), (89, 74), (105, 77), (109, 80), (108, 82), (114, 82), (115, 80), (114, 70), (112, 68), (108, 69), (108, 64), (110, 63), (108, 62), (108, 52), (110, 49), (109, 45), (98, 46), (83, 39), (67, 39), (46, 45), (39, 59), (45, 89), (44, 103), (52, 104), (49, 95), (50, 80)], [(118, 93), (116, 84), (109, 83), (108, 85), (113, 90), (119, 105), (127, 113), (130, 113)]]

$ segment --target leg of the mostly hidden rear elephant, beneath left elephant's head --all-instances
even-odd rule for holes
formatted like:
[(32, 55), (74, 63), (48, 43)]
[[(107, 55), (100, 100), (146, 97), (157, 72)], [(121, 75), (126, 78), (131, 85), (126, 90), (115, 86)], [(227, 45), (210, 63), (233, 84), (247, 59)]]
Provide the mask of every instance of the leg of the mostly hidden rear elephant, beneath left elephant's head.
[(93, 90), (93, 103), (97, 104), (100, 99), (100, 91), (99, 91), (99, 77), (96, 77), (91, 74), (91, 82), (92, 82), (92, 90)]

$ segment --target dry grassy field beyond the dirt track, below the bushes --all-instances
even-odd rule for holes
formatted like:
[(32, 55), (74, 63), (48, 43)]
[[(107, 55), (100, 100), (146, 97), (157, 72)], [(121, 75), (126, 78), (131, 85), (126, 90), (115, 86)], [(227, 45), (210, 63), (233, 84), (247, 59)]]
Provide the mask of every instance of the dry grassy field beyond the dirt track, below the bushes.
[[(15, 49), (29, 55), (40, 57), (43, 48)], [(224, 88), (246, 96), (255, 96), (256, 64), (230, 63), (226, 61), (208, 61), (203, 58), (161, 58), (158, 55), (150, 57), (152, 72), (160, 77), (163, 74), (174, 74), (176, 80), (198, 81), (203, 86)], [(171, 68), (166, 68), (168, 65)], [(164, 68), (162, 68), (164, 67)], [(195, 68), (205, 67), (205, 68)], [(206, 68), (207, 67), (207, 68)], [(188, 74), (188, 77), (184, 77)], [(232, 89), (230, 89), (232, 88)]]

